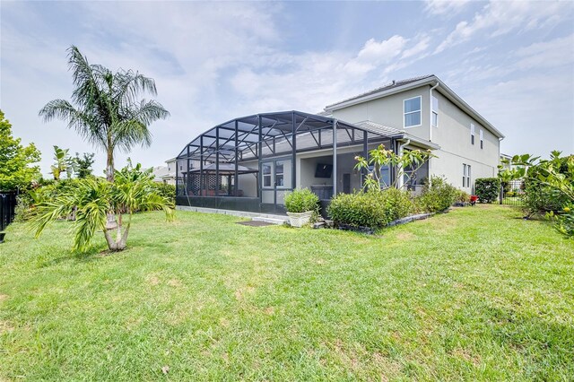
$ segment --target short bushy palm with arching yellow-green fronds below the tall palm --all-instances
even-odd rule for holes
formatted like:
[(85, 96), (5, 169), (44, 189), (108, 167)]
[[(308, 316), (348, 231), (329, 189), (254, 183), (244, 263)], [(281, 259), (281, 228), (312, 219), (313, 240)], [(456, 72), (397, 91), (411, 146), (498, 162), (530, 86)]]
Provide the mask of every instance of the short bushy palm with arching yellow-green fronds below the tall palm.
[[(101, 178), (79, 179), (77, 187), (40, 201), (30, 227), (39, 237), (48, 223), (75, 213), (74, 250), (86, 251), (96, 230), (103, 231), (110, 251), (123, 250), (134, 213), (163, 210), (168, 220), (173, 219), (173, 203), (153, 191), (152, 178), (151, 172), (142, 171), (138, 164), (116, 171), (114, 183)], [(109, 211), (115, 212), (115, 230), (106, 227)]]

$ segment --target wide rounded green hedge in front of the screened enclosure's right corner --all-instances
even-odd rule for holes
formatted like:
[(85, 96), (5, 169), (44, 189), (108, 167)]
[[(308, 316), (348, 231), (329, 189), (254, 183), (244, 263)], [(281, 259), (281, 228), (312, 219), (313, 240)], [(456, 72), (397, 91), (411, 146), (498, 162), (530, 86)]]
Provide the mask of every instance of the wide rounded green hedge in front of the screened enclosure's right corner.
[(378, 229), (415, 211), (409, 193), (396, 188), (339, 194), (327, 213), (337, 223)]

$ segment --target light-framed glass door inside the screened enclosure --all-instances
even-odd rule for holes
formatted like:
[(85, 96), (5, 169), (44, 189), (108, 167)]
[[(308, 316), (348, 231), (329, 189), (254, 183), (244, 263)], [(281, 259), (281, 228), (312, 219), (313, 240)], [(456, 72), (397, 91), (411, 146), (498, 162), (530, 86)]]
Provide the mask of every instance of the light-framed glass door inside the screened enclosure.
[(292, 187), (291, 159), (274, 159), (261, 162), (261, 203), (273, 206), (283, 206), (285, 195)]

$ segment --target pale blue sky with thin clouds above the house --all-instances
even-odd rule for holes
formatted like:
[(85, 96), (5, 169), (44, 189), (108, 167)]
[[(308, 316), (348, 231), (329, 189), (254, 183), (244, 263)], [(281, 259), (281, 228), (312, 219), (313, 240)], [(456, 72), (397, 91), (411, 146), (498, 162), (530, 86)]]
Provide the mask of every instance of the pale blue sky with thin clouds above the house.
[(506, 138), (501, 152), (574, 153), (574, 2), (0, 2), (0, 109), (47, 175), (53, 145), (105, 154), (49, 100), (70, 100), (66, 49), (152, 77), (170, 111), (151, 147), (117, 152), (163, 165), (235, 117), (317, 113), (392, 80), (436, 74)]

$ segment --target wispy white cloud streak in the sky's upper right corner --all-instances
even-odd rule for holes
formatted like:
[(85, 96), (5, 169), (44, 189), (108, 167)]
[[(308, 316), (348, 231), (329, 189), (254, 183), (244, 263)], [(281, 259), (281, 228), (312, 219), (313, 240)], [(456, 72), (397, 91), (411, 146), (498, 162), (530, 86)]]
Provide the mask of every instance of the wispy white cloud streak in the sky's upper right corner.
[(458, 22), (435, 53), (461, 44), (479, 32), (496, 37), (513, 30), (543, 28), (560, 22), (572, 9), (571, 4), (559, 2), (491, 2), (475, 13), (472, 21)]

